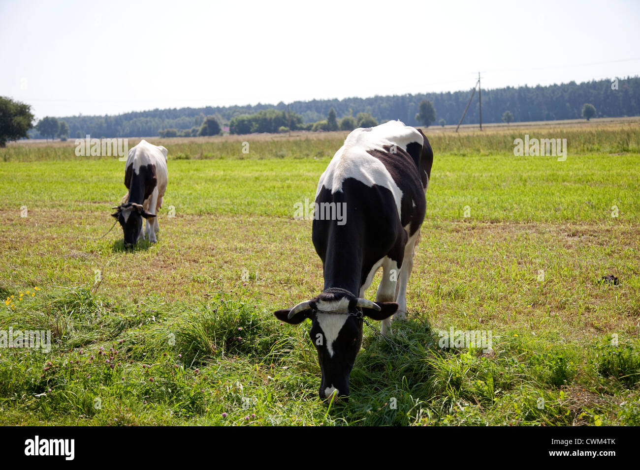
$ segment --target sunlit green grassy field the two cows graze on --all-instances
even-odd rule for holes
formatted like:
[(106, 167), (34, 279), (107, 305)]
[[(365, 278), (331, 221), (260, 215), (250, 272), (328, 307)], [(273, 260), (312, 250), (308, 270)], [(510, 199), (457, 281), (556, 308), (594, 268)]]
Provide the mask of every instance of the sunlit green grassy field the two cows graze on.
[[(566, 161), (515, 157), (525, 133), (566, 138)], [(52, 332), (50, 352), (0, 349), (0, 424), (640, 425), (636, 121), (426, 130), (404, 349), (365, 329), (349, 402), (326, 405), (308, 325), (271, 312), (322, 288), (294, 204), (345, 134), (152, 139), (169, 184), (134, 251), (108, 232), (124, 163), (0, 149), (0, 331)], [(451, 327), (492, 351), (440, 348)]]

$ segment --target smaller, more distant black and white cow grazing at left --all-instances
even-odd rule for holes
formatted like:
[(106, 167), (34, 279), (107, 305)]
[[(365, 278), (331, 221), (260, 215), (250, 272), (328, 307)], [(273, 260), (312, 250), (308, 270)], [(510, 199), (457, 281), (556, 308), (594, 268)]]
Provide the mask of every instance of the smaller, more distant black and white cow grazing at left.
[[(162, 207), (162, 199), (168, 174), (166, 171), (167, 150), (161, 145), (152, 145), (144, 139), (127, 156), (124, 185), (129, 192), (113, 217), (118, 219), (124, 231), (124, 246), (131, 247), (139, 240), (147, 239), (156, 243), (156, 233), (160, 231), (157, 210)], [(142, 218), (147, 219), (147, 228), (142, 230)]]

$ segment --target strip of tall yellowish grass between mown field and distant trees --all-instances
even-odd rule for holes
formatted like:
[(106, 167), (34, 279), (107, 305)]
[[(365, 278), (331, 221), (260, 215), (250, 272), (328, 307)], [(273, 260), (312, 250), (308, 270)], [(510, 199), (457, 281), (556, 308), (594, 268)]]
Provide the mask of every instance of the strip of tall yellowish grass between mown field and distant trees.
[[(531, 127), (512, 129), (430, 132), (424, 130), (437, 154), (476, 155), (511, 153), (513, 141), (529, 134), (537, 139), (566, 139), (568, 152), (640, 152), (640, 127), (621, 123), (600, 126)], [(151, 139), (169, 150), (170, 159), (265, 159), (331, 157), (342, 145), (347, 132), (304, 133), (294, 136), (260, 134), (248, 136)], [(140, 139), (129, 139), (129, 148)], [(248, 143), (248, 146), (243, 143)], [(56, 161), (115, 157), (77, 157), (73, 139), (51, 145), (15, 143), (0, 149), (0, 161)], [(244, 152), (243, 152), (244, 150)]]

